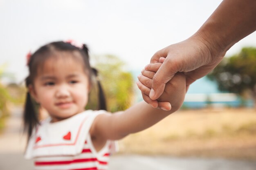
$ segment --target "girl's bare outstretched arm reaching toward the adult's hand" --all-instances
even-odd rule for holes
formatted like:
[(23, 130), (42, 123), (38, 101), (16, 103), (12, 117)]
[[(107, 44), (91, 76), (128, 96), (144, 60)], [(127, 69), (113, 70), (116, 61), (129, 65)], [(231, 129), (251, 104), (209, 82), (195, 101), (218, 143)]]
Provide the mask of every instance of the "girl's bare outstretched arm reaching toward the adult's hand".
[(97, 116), (90, 130), (90, 134), (92, 137), (100, 138), (101, 140), (116, 140), (156, 124), (180, 108), (186, 93), (185, 82), (183, 73), (177, 73), (166, 84), (164, 93), (159, 97), (159, 101), (171, 103), (171, 110), (165, 111), (153, 108), (143, 101), (122, 112)]

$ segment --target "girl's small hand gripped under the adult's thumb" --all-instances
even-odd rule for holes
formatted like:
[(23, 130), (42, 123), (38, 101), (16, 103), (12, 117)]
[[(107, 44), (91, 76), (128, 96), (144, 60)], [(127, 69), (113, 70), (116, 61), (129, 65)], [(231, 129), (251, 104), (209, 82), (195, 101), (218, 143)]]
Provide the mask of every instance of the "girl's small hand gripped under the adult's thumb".
[[(163, 62), (164, 59), (160, 60)], [(141, 71), (142, 75), (138, 76), (139, 82), (137, 86), (141, 91), (143, 99), (147, 103), (153, 103), (151, 106), (154, 108), (161, 108), (163, 110), (178, 110), (184, 101), (184, 96), (186, 93), (186, 80), (183, 73), (176, 73), (174, 79), (171, 79), (164, 89), (164, 93), (157, 99), (151, 100), (148, 95), (150, 93), (150, 88), (152, 85), (152, 79), (155, 72), (159, 69), (162, 63), (149, 64), (146, 66), (146, 70)], [(150, 101), (150, 102), (149, 102)]]

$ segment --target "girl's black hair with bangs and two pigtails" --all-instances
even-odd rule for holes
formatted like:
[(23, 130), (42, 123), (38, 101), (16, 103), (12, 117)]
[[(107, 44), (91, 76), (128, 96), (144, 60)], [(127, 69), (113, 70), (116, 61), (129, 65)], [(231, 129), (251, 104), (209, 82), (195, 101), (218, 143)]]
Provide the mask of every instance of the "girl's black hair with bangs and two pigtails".
[[(99, 82), (99, 79), (97, 78), (98, 71), (95, 68), (92, 68), (90, 66), (88, 47), (85, 44), (83, 44), (82, 48), (79, 48), (72, 45), (69, 42), (58, 41), (58, 42), (52, 42), (40, 47), (28, 59), (27, 66), (29, 67), (29, 75), (25, 79), (26, 87), (29, 88), (29, 86), (31, 85), (33, 86), (34, 79), (37, 75), (38, 69), (43, 67), (47, 59), (49, 59), (50, 57), (57, 56), (57, 55), (54, 55), (54, 53), (56, 52), (70, 52), (73, 54), (72, 57), (74, 57), (74, 59), (76, 60), (81, 60), (82, 58), (84, 71), (88, 75), (90, 85), (91, 86), (93, 85), (92, 76), (95, 76), (97, 79), (97, 86), (99, 88), (98, 110), (107, 110), (106, 99), (104, 97), (103, 89), (101, 87), (101, 83)], [(77, 52), (80, 54), (79, 56), (81, 57), (77, 57), (77, 55), (75, 55)], [(66, 56), (64, 55), (61, 57), (66, 57)], [(27, 130), (28, 139), (29, 139), (31, 137), (33, 129), (39, 124), (38, 104), (36, 104), (36, 102), (31, 97), (29, 92), (27, 92), (23, 121), (24, 121), (24, 130), (25, 131)]]

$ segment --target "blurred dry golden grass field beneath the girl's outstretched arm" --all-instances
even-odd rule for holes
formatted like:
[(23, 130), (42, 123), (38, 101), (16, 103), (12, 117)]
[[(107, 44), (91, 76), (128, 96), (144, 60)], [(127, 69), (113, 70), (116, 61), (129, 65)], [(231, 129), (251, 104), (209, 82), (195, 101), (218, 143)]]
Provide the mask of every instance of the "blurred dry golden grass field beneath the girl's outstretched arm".
[(121, 153), (256, 160), (256, 110), (180, 110), (119, 141), (119, 149)]

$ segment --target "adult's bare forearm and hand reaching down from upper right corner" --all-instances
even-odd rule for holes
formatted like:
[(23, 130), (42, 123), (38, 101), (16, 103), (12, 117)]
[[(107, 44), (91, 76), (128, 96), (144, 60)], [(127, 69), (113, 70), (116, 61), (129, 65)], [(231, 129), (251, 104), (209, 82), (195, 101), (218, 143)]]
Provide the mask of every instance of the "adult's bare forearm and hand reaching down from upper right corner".
[(231, 46), (256, 30), (255, 16), (255, 0), (223, 0), (193, 36), (155, 53), (146, 70), (161, 57), (166, 60), (153, 77), (148, 103), (162, 94), (175, 73), (184, 72), (188, 90), (192, 82), (212, 71)]

